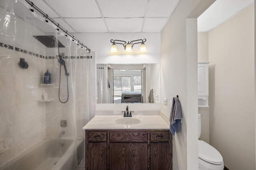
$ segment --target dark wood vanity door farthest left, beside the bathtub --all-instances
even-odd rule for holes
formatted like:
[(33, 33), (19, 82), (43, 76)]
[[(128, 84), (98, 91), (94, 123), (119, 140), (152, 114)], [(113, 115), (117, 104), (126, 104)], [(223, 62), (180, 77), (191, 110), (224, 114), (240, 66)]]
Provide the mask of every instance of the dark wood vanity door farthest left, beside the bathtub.
[(88, 142), (88, 170), (107, 169), (107, 143)]

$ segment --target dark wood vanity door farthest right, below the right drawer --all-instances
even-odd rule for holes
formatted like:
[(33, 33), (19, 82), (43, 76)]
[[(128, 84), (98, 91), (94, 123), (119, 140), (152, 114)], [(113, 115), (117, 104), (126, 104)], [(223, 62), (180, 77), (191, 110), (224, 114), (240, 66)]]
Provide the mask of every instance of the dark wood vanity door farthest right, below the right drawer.
[(150, 144), (151, 170), (169, 170), (172, 168), (170, 149), (168, 142)]

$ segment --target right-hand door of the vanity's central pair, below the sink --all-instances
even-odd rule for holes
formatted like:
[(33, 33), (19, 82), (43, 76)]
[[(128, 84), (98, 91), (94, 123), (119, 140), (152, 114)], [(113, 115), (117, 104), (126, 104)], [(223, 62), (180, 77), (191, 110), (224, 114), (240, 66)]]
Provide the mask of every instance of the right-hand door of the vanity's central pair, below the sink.
[(148, 169), (147, 143), (129, 144), (129, 170)]

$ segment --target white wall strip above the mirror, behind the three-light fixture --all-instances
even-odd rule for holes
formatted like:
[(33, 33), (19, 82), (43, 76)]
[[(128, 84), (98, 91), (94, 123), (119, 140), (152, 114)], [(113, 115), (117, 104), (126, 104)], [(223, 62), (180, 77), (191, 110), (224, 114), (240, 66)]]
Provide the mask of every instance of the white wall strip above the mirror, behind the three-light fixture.
[[(74, 34), (80, 42), (83, 42), (92, 51), (96, 51), (96, 63), (160, 63), (160, 33), (80, 33)], [(116, 44), (117, 54), (110, 53), (113, 40), (132, 40), (146, 39), (145, 45), (147, 53), (139, 53), (140, 44), (133, 46), (132, 53), (124, 53), (124, 47)]]

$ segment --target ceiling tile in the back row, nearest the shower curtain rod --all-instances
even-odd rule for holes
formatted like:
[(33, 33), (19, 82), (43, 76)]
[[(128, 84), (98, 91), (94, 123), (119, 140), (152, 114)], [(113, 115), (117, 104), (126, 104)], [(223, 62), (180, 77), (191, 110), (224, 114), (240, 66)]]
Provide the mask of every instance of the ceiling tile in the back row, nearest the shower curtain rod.
[(102, 18), (65, 18), (77, 32), (108, 32)]

